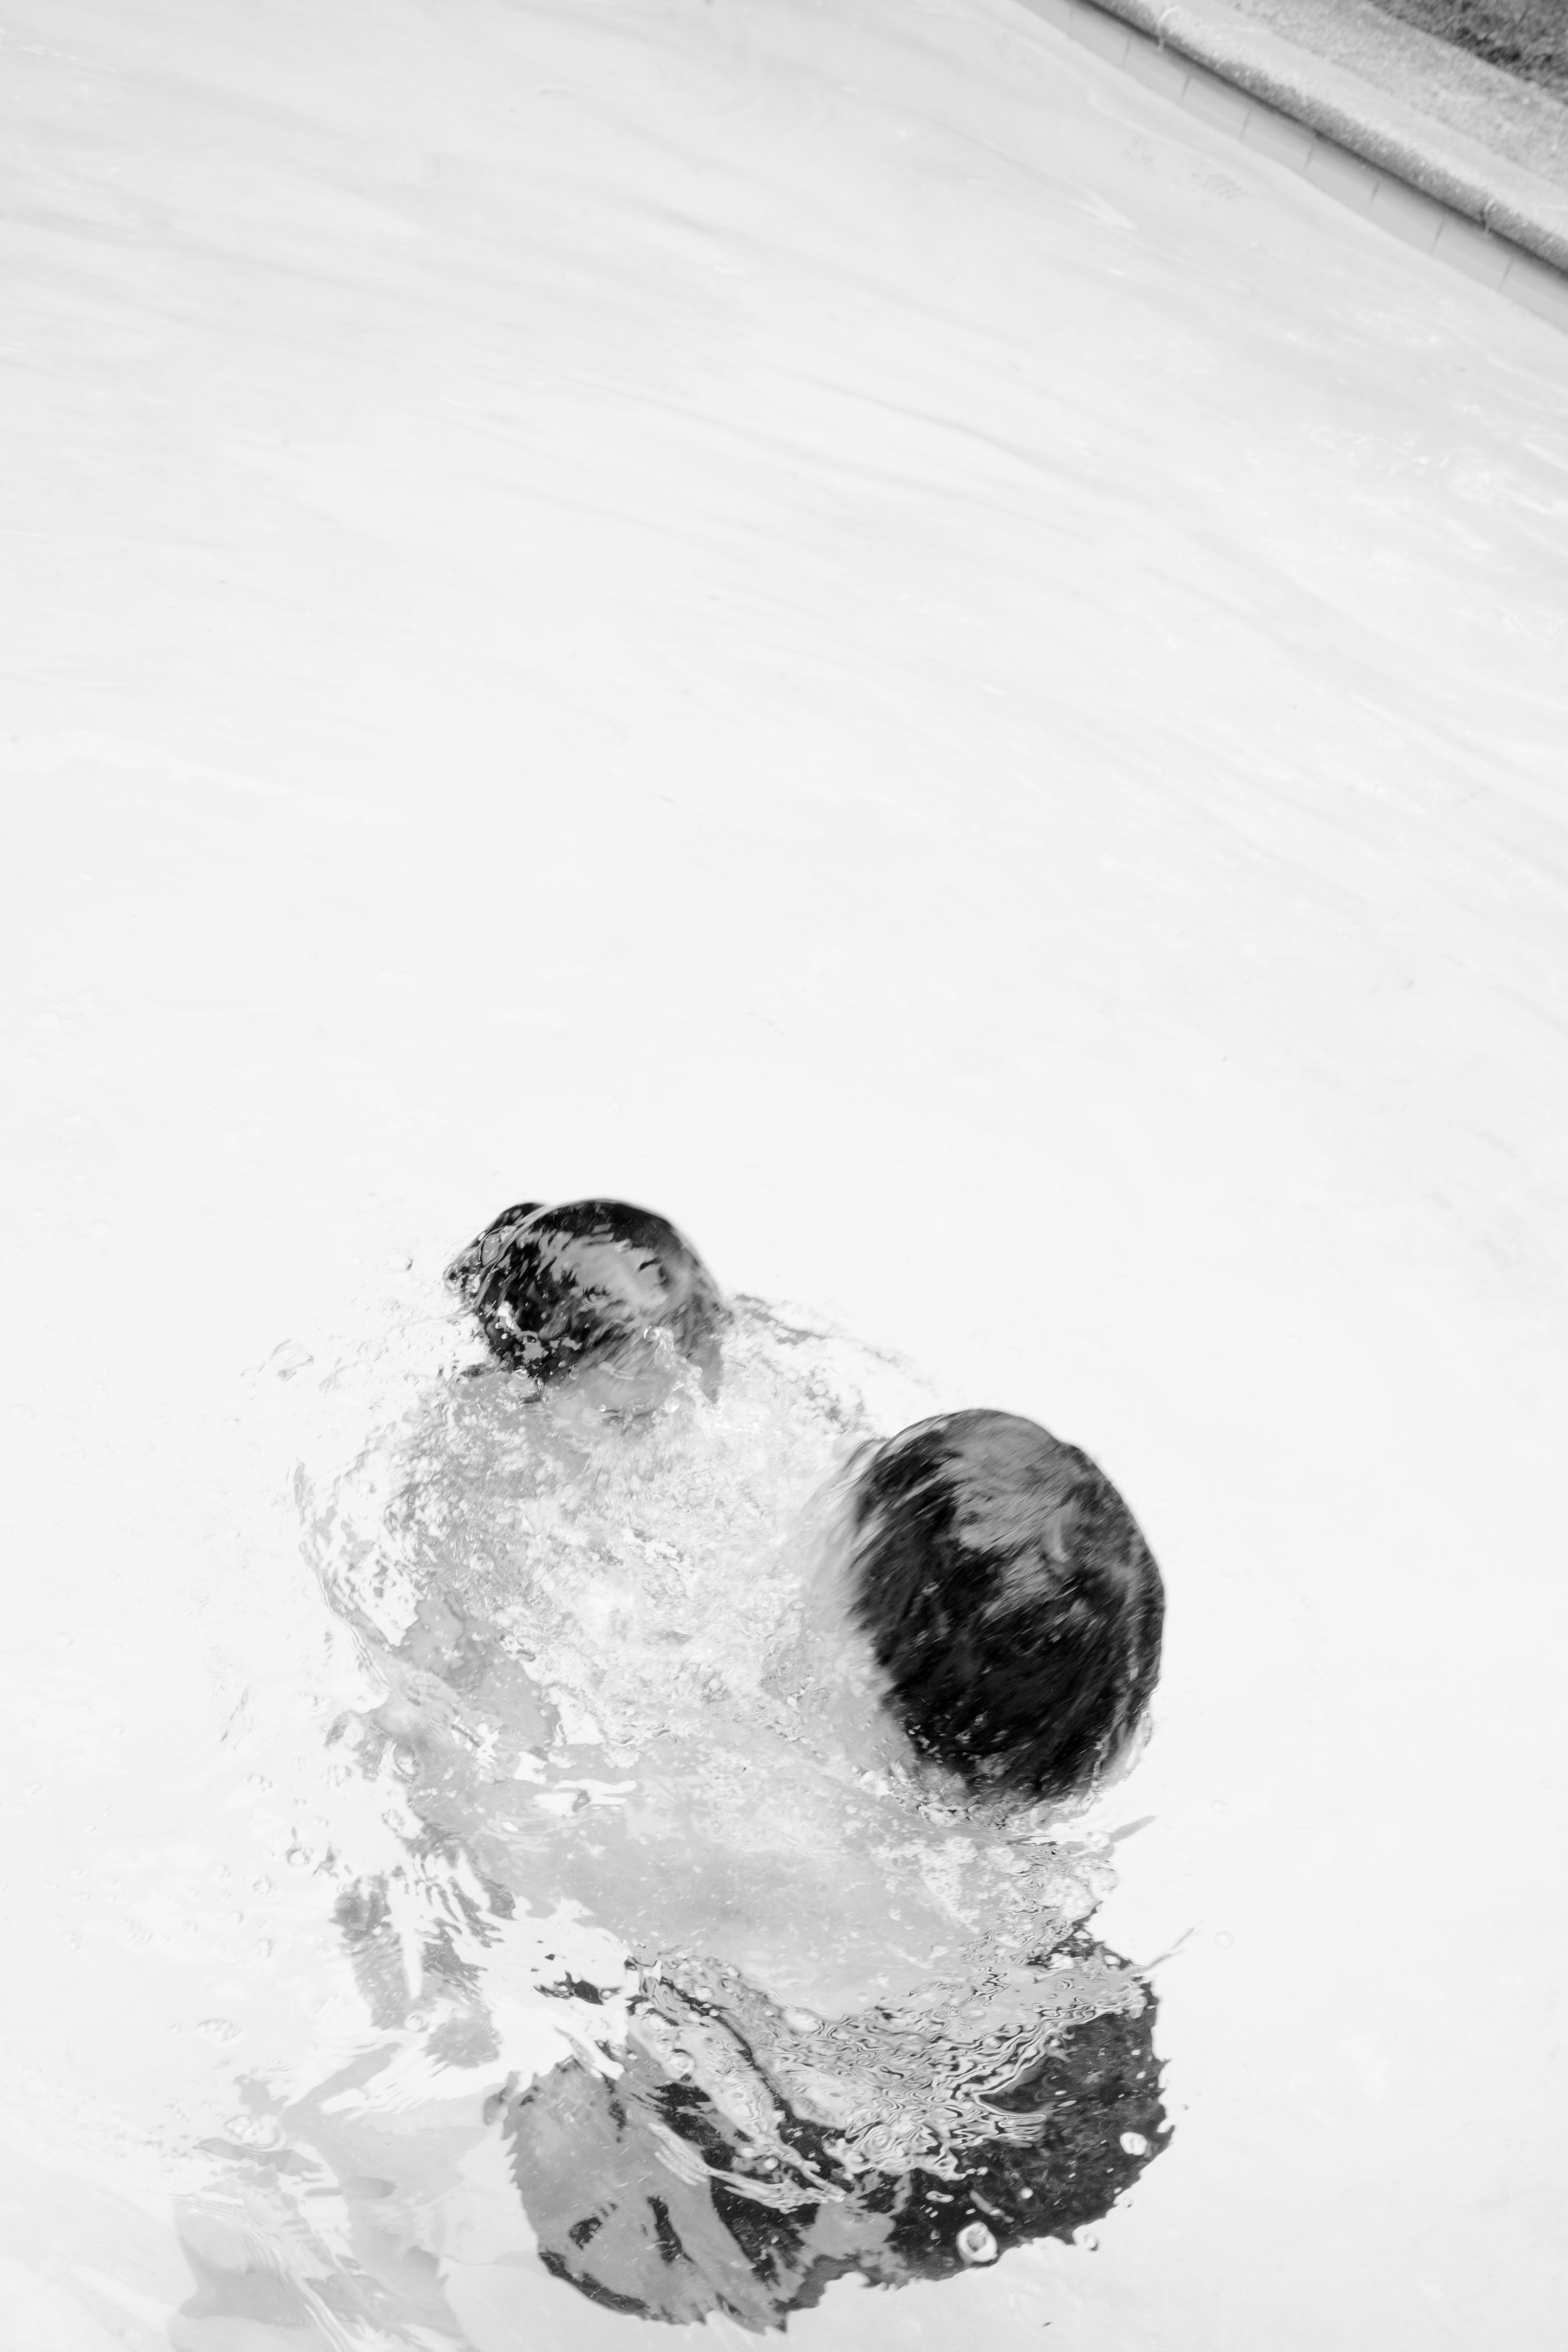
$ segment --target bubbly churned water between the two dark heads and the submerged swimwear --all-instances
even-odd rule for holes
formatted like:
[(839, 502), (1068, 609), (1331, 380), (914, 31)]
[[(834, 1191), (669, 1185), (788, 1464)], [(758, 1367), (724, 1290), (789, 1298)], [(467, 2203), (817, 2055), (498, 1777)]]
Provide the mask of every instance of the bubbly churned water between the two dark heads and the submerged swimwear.
[(407, 1809), (407, 1867), (339, 1917), (425, 2063), (494, 2056), (524, 1969), (583, 2063), (630, 2046), (701, 2091), (726, 2178), (778, 2209), (842, 2194), (825, 2164), (943, 2176), (1027, 2138), (997, 2098), (1072, 2025), (1140, 2013), (1077, 1933), (1100, 1842), (917, 1766), (849, 1625), (846, 1470), (933, 1404), (738, 1301), (712, 1402), (684, 1381), (611, 1423), (447, 1367), (348, 1470), (301, 1475), (386, 1693), (336, 1738)]

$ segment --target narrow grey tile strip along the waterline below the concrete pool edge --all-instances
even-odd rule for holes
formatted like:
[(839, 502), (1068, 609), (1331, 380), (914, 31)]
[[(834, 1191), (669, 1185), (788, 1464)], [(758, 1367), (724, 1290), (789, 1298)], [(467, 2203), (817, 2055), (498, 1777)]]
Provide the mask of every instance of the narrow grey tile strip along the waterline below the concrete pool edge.
[(1363, 214), (1403, 245), (1432, 254), (1448, 268), (1495, 287), (1512, 301), (1568, 334), (1568, 273), (1526, 252), (1455, 205), (1427, 195), (1385, 162), (1356, 155), (1340, 139), (1314, 129), (1281, 106), (1241, 89), (1222, 73), (1187, 56), (1168, 40), (1145, 33), (1117, 14), (1117, 0), (1020, 0), (1032, 16), (1053, 24), (1093, 56), (1121, 66), (1147, 89), (1173, 99), (1213, 129), (1241, 139), (1274, 162), (1300, 172), (1314, 188)]

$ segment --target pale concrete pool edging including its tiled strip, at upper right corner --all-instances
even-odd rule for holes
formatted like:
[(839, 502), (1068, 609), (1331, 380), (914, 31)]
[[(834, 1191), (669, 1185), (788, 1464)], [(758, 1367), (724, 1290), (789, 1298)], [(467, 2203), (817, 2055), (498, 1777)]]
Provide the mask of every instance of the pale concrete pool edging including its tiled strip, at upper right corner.
[(1568, 106), (1373, 0), (1023, 0), (1568, 332)]

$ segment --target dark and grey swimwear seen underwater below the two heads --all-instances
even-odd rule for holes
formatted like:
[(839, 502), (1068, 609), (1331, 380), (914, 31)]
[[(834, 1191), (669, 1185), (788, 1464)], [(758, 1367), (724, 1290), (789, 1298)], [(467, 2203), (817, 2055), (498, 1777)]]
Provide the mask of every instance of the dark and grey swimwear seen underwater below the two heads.
[[(1105, 1957), (1105, 1955), (1098, 1955)], [(945, 2279), (1098, 2220), (1164, 2145), (1154, 1999), (1067, 2027), (992, 2105), (1011, 2131), (950, 2173), (849, 2173), (832, 2136), (780, 2107), (802, 2176), (780, 2194), (712, 2096), (642, 2049), (618, 2079), (569, 2060), (503, 2096), (501, 2129), (548, 2270), (644, 2319), (726, 2312), (783, 2326), (832, 2279)]]

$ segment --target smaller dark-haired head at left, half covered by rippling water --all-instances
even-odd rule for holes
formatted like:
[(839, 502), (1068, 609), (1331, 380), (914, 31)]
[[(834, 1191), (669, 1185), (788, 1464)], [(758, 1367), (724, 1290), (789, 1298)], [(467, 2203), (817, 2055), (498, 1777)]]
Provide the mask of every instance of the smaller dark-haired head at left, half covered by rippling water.
[(498, 1364), (559, 1381), (656, 1336), (712, 1385), (724, 1298), (691, 1242), (623, 1200), (517, 1202), (447, 1268)]

